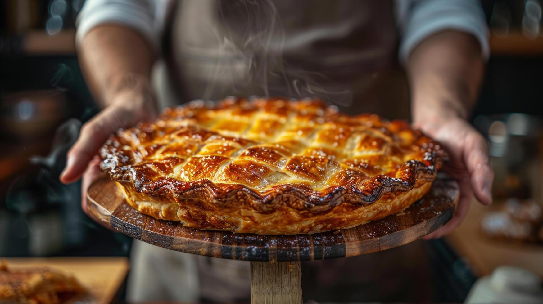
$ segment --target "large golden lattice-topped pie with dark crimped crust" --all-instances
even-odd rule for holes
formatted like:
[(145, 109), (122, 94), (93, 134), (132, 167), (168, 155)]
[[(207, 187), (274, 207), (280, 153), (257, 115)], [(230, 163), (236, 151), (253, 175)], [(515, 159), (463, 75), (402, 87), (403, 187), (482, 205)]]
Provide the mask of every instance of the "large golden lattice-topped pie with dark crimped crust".
[(166, 109), (120, 130), (100, 167), (128, 204), (197, 229), (345, 229), (420, 200), (440, 145), (407, 122), (349, 116), (319, 100), (226, 98)]

